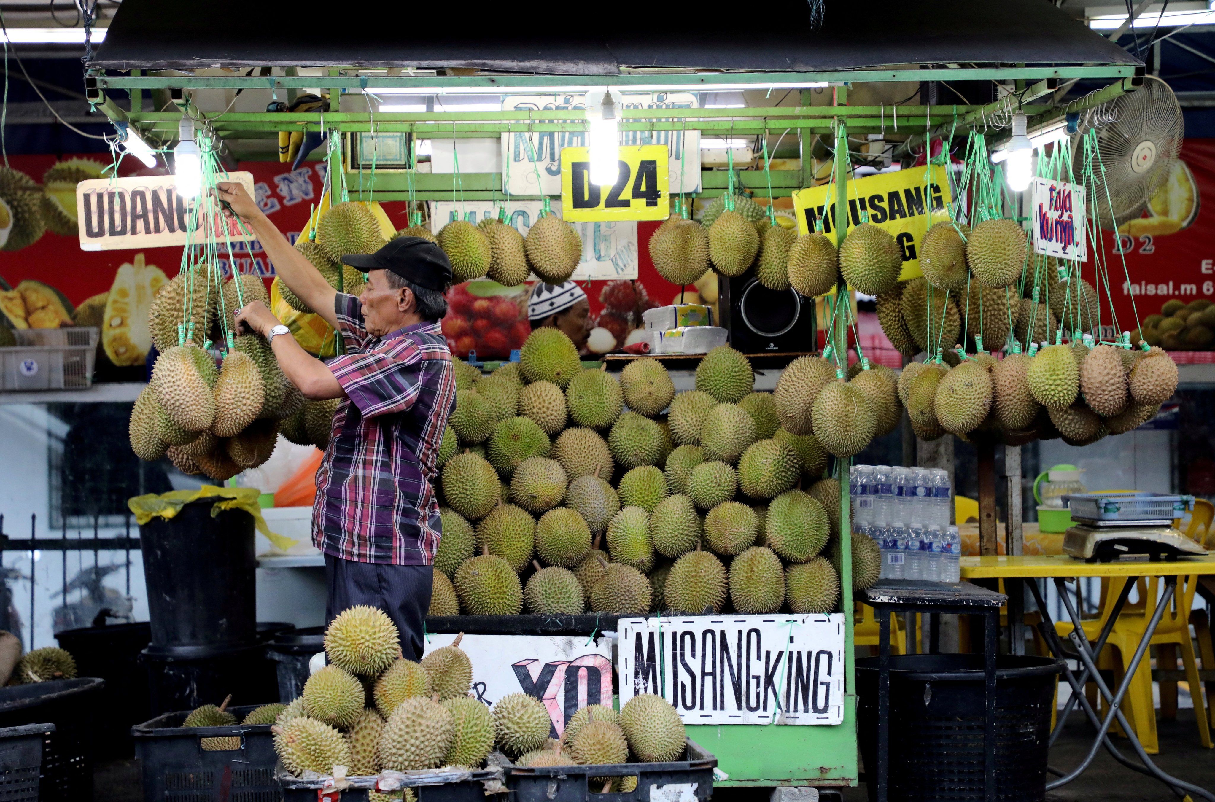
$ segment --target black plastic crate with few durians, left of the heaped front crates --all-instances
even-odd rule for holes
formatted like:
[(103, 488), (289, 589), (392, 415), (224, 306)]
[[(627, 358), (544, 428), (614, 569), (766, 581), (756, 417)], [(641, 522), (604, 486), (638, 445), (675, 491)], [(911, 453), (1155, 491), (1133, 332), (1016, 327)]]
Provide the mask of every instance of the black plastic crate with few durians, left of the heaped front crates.
[[(258, 705), (228, 707), (239, 722)], [(279, 802), (270, 724), (182, 727), (188, 711), (131, 728), (145, 802)], [(239, 749), (205, 750), (203, 739), (236, 738)], [(234, 744), (234, 741), (233, 741)], [(315, 795), (313, 795), (315, 802)]]

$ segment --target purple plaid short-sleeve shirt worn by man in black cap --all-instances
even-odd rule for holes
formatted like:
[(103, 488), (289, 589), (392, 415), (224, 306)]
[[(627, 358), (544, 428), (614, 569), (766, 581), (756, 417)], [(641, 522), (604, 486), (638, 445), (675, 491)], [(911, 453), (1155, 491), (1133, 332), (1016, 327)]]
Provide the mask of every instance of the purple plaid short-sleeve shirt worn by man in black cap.
[(346, 352), (328, 367), (346, 391), (316, 471), (312, 542), (356, 563), (431, 565), (442, 523), (435, 459), (456, 407), (439, 323), (377, 338), (354, 295), (334, 301)]

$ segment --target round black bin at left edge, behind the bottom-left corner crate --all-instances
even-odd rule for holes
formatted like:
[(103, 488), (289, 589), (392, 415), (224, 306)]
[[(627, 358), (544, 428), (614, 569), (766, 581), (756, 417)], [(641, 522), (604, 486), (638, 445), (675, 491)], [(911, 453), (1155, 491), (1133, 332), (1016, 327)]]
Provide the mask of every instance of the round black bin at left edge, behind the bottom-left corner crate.
[(96, 677), (0, 688), (0, 728), (49, 722), (43, 741), (43, 802), (92, 798), (96, 705), (104, 683)]

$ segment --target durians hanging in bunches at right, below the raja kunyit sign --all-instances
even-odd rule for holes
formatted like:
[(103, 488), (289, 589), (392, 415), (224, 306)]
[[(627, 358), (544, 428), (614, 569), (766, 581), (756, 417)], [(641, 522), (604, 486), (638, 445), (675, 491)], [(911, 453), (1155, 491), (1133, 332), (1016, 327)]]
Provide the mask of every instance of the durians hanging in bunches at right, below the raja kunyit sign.
[[(922, 277), (876, 295), (894, 348), (929, 356), (898, 382), (923, 440), (948, 433), (1084, 446), (1151, 420), (1177, 388), (1177, 366), (1162, 349), (1080, 335), (1096, 328), (1097, 290), (1079, 277), (1061, 279), (1053, 259), (1027, 259), (1025, 233), (1012, 220), (973, 230), (938, 222), (925, 236), (920, 265)], [(1068, 344), (1058, 341), (1061, 329), (1073, 333)], [(1022, 343), (1044, 346), (1022, 352)], [(991, 351), (1001, 349), (996, 358)], [(944, 360), (932, 358), (942, 351)]]

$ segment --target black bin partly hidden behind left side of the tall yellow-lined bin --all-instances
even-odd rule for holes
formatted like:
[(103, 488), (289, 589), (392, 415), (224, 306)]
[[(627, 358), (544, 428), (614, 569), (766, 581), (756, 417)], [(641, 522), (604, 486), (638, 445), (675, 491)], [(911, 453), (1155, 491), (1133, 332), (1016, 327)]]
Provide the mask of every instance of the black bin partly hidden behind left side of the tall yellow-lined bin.
[(131, 757), (131, 727), (152, 717), (148, 670), (140, 653), (152, 642), (152, 625), (119, 623), (56, 632), (61, 649), (72, 653), (77, 673), (106, 680), (97, 694), (96, 756), (101, 759)]

